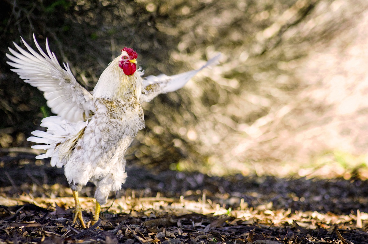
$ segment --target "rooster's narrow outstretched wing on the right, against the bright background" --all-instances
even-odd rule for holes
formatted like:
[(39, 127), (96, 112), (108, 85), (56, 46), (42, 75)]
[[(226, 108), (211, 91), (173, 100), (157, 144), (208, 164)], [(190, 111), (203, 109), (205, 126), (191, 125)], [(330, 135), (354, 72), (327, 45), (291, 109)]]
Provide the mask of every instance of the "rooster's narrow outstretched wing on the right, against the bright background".
[(147, 76), (143, 79), (142, 95), (139, 99), (139, 102), (149, 102), (159, 94), (173, 92), (180, 89), (202, 69), (210, 65), (218, 64), (218, 60), (220, 57), (221, 53), (208, 60), (208, 62), (204, 66), (202, 66), (202, 68), (181, 73), (178, 75), (167, 76), (162, 74), (158, 76)]

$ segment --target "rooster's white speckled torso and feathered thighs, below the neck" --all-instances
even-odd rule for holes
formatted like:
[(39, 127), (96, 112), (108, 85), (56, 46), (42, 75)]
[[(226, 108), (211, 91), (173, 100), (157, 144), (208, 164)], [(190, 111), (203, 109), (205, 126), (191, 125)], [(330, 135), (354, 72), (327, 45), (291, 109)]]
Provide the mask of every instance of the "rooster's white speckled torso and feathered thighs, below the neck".
[(93, 182), (96, 200), (105, 204), (110, 191), (120, 190), (125, 183), (123, 157), (138, 131), (144, 128), (144, 116), (135, 97), (96, 98), (95, 105), (96, 113), (80, 134), (64, 172), (74, 191)]

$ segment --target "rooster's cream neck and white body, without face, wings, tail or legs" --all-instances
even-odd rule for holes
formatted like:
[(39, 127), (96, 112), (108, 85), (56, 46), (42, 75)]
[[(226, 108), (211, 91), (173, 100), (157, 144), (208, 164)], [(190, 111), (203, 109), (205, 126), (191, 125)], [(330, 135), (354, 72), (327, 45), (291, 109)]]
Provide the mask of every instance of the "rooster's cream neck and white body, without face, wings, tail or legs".
[[(95, 112), (77, 134), (75, 145), (64, 150), (67, 153), (64, 172), (71, 189), (80, 191), (81, 186), (93, 182), (99, 204), (105, 204), (110, 191), (120, 190), (125, 183), (125, 151), (145, 127), (139, 103), (142, 78), (138, 72), (125, 75), (118, 67), (124, 55), (117, 57), (102, 73), (93, 90)], [(75, 140), (73, 136), (71, 140)], [(72, 145), (68, 141), (64, 143)]]

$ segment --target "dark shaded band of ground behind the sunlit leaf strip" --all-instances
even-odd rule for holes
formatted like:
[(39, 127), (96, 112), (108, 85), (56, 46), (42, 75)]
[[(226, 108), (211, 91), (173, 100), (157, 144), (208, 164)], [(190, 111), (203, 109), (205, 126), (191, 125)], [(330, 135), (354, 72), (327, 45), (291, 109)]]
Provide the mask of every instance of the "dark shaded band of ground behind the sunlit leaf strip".
[[(52, 168), (48, 162), (36, 166), (8, 163), (1, 168), (0, 195), (17, 197), (24, 192), (33, 197), (70, 196), (63, 169)], [(116, 194), (135, 197), (202, 199), (205, 195), (223, 208), (242, 207), (291, 209), (294, 211), (333, 212), (349, 215), (368, 212), (368, 181), (360, 179), (278, 178), (275, 176), (208, 176), (202, 173), (163, 171), (154, 172), (129, 166), (127, 182)], [(21, 176), (21, 177), (20, 177)], [(57, 184), (57, 187), (53, 185)], [(81, 196), (93, 197), (94, 186), (89, 183)], [(111, 193), (110, 198), (114, 198)], [(243, 199), (243, 200), (242, 200)], [(244, 203), (243, 203), (244, 202)]]

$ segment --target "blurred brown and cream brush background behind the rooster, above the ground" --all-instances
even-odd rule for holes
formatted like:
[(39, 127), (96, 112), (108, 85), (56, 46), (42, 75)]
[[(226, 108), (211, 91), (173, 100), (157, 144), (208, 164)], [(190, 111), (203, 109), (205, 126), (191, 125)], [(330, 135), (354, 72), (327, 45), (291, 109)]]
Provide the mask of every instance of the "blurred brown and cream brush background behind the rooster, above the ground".
[(1, 167), (34, 161), (25, 139), (52, 115), (42, 93), (6, 64), (7, 47), (22, 46), (20, 36), (31, 44), (35, 33), (88, 90), (125, 46), (137, 50), (146, 75), (189, 71), (223, 53), (221, 65), (143, 105), (146, 128), (128, 164), (209, 176), (368, 177), (366, 0), (0, 6)]

